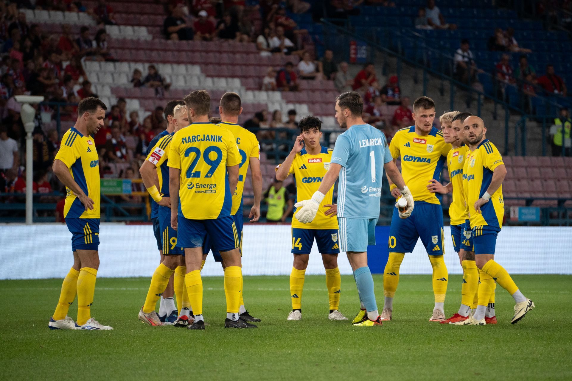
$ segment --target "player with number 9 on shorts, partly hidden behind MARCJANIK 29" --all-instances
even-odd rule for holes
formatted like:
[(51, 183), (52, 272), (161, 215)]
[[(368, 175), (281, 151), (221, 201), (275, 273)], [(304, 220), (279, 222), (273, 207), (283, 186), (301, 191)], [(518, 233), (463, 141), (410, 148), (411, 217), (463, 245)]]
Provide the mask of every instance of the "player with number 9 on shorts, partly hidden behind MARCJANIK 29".
[[(184, 105), (176, 105), (173, 108), (173, 115), (170, 121), (172, 121), (173, 124), (173, 131), (159, 139), (157, 143), (151, 147), (140, 169), (141, 179), (147, 191), (159, 205), (158, 223), (161, 232), (163, 260), (153, 273), (149, 291), (145, 298), (145, 304), (139, 311), (139, 319), (142, 322), (148, 323), (150, 326), (175, 323), (177, 327), (185, 327), (188, 325), (192, 313), (189, 310), (188, 295), (186, 295), (186, 290), (183, 286), (184, 276), (186, 274), (185, 263), (182, 258), (184, 251), (177, 245), (177, 232), (170, 226), (171, 204), (169, 198), (169, 167), (167, 166), (167, 159), (169, 157), (170, 142), (173, 139), (174, 133), (182, 127), (189, 125), (186, 107)], [(157, 184), (155, 179), (158, 179)], [(159, 186), (158, 189), (157, 185)], [(178, 313), (179, 317), (173, 322), (162, 322), (160, 316), (155, 311), (155, 306), (173, 274), (177, 274), (177, 287), (174, 288), (176, 288), (177, 291), (178, 311), (180, 311)]]

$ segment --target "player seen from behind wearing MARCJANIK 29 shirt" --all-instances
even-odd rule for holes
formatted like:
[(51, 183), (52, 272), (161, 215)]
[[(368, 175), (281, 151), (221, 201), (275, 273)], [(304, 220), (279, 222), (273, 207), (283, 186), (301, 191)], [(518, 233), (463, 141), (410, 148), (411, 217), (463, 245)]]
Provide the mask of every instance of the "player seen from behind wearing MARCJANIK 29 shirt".
[(231, 215), (233, 190), (239, 181), (239, 149), (231, 131), (209, 123), (207, 91), (192, 91), (184, 101), (191, 125), (173, 135), (167, 165), (171, 226), (177, 230), (177, 245), (185, 249), (185, 287), (194, 312), (188, 328), (205, 329), (200, 268), (207, 233), (227, 266), (225, 328), (256, 327), (239, 316), (243, 275), (240, 238)]

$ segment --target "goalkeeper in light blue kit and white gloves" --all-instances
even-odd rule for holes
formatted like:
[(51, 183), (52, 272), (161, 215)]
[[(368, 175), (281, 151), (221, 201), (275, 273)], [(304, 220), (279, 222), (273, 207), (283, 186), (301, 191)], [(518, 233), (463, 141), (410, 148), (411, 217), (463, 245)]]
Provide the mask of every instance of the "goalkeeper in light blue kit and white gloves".
[(312, 222), (324, 194), (340, 178), (337, 189), (340, 251), (347, 252), (362, 302), (352, 323), (358, 327), (374, 327), (381, 326), (382, 321), (375, 301), (374, 279), (367, 266), (367, 246), (375, 244), (383, 169), (407, 201), (406, 209), (399, 212), (401, 218), (411, 215), (414, 202), (393, 162), (385, 135), (364, 123), (362, 110), (362, 97), (355, 91), (337, 97), (336, 119), (347, 131), (337, 137), (329, 170), (320, 188), (311, 199), (295, 204), (298, 208), (295, 218), (302, 223)]

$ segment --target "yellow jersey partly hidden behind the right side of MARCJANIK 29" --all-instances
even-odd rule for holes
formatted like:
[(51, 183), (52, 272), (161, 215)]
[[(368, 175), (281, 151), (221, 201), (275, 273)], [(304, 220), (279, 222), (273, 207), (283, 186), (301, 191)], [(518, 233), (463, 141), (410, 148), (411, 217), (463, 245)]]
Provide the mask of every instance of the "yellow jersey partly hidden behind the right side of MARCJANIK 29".
[(251, 158), (260, 159), (260, 146), (256, 135), (237, 125), (236, 123), (221, 122), (219, 126), (223, 126), (235, 135), (236, 145), (239, 147), (240, 153), (240, 168), (239, 168), (239, 182), (236, 185), (236, 191), (232, 196), (232, 211), (231, 214), (235, 215), (239, 209), (243, 207), (243, 191), (244, 181), (247, 178), (248, 165)]

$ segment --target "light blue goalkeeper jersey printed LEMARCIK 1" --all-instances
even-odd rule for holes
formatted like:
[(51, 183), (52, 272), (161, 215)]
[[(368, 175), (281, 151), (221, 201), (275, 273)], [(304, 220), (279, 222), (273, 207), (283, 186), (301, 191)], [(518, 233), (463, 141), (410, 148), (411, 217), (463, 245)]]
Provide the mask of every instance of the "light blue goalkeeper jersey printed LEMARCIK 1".
[(337, 137), (331, 162), (342, 167), (338, 217), (379, 218), (383, 165), (392, 160), (386, 135), (373, 126), (351, 126)]

